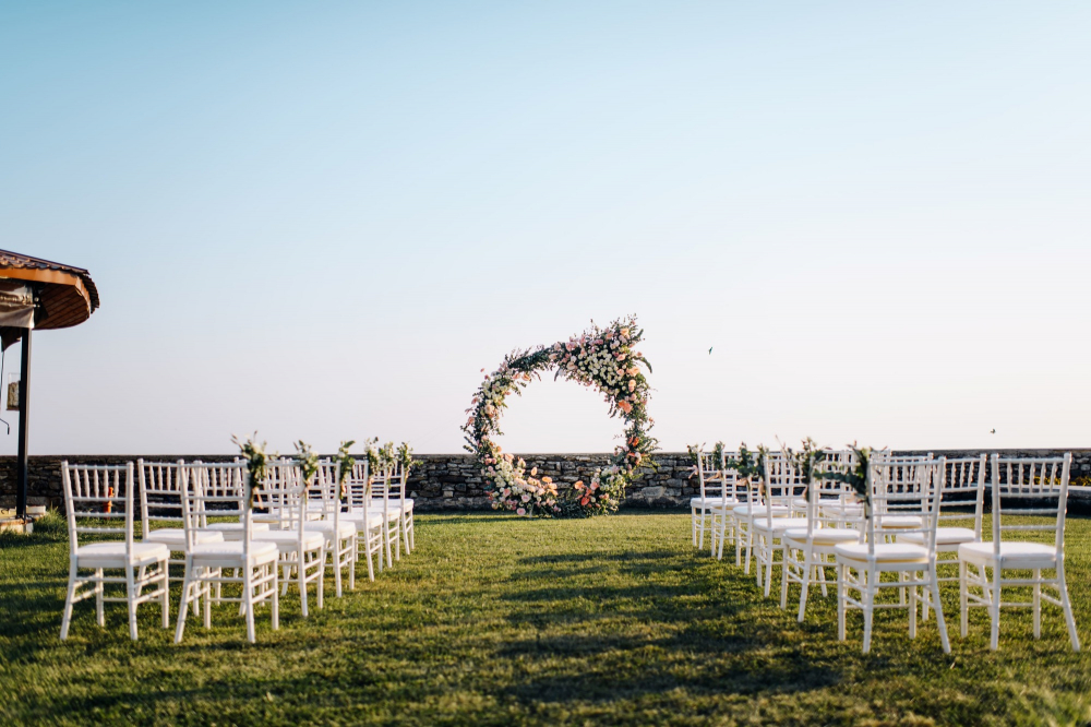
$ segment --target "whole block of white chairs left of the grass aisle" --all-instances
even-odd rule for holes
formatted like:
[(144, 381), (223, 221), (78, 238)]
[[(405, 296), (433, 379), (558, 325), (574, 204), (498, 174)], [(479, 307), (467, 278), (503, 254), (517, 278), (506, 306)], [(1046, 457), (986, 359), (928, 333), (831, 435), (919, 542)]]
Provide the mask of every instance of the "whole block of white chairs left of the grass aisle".
[[(256, 485), (241, 461), (64, 462), (61, 469), (70, 541), (62, 640), (73, 606), (92, 597), (99, 625), (105, 625), (104, 603), (128, 604), (134, 641), (141, 604), (159, 601), (163, 627), (169, 628), (173, 564), (184, 572), (176, 643), (191, 608), (197, 615), (203, 605), (204, 625), (211, 628), (213, 605), (225, 601), (239, 604), (254, 642), (255, 609), (268, 604), (277, 629), (279, 597), (290, 585), (298, 587), (307, 617), (312, 585), (316, 606), (324, 605), (327, 569), (340, 597), (346, 577), (348, 587), (356, 587), (361, 556), (374, 581), (376, 570), (401, 559), (403, 548), (408, 555), (416, 547), (413, 501), (406, 496), (408, 473), (400, 464), (371, 473), (359, 463), (343, 485), (339, 464), (328, 461), (304, 482), (296, 462), (275, 460)], [(124, 584), (125, 595), (107, 596), (110, 583)], [(225, 595), (225, 584), (239, 586), (240, 595)]]

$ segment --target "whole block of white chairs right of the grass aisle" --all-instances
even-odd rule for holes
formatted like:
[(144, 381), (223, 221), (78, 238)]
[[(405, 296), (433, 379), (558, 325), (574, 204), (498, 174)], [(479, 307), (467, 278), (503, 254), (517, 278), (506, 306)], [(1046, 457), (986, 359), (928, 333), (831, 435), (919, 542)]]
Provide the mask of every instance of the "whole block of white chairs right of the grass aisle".
[[(896, 456), (872, 454), (868, 478), (871, 512), (847, 485), (823, 476), (804, 478), (780, 452), (765, 458), (764, 477), (745, 481), (728, 466), (734, 453), (715, 461), (700, 453), (696, 467), (699, 494), (691, 501), (692, 537), (704, 548), (708, 531), (711, 555), (722, 559), (724, 543), (734, 543), (735, 564), (750, 573), (768, 597), (774, 569), (780, 569), (780, 607), (787, 608), (790, 584), (800, 588), (798, 619), (803, 622), (812, 588), (827, 596), (836, 584), (838, 637), (846, 639), (846, 613), (864, 619), (863, 651), (871, 647), (873, 613), (879, 608), (910, 612), (910, 636), (920, 613), (935, 615), (940, 642), (950, 649), (939, 601), (944, 582), (958, 582), (960, 632), (969, 631), (969, 610), (985, 608), (991, 619), (990, 647), (999, 647), (1002, 608), (1031, 608), (1033, 634), (1041, 636), (1042, 604), (1057, 606), (1075, 651), (1080, 642), (1065, 581), (1065, 517), (1071, 454), (1060, 457)], [(851, 451), (827, 451), (816, 473), (847, 472), (855, 466)], [(992, 540), (983, 540), (985, 491), (991, 491)], [(870, 516), (868, 516), (870, 514)], [(958, 522), (961, 521), (961, 522)], [(1048, 543), (1027, 533), (1050, 533)], [(940, 577), (940, 564), (958, 575)], [(828, 571), (832, 571), (829, 573)], [(892, 574), (892, 575), (886, 575)], [(884, 577), (886, 576), (886, 579)], [(1003, 597), (1005, 588), (1030, 588), (1030, 600)], [(897, 589), (897, 600), (879, 598)]]

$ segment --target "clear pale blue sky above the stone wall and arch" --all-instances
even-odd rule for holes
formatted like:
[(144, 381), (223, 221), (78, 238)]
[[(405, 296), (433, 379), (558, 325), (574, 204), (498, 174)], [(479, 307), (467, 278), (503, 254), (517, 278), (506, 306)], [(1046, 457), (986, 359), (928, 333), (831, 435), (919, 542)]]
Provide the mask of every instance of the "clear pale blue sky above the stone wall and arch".
[(454, 452), (627, 312), (668, 449), (1091, 444), (1091, 4), (9, 2), (0, 68), (0, 248), (103, 298), (33, 453)]

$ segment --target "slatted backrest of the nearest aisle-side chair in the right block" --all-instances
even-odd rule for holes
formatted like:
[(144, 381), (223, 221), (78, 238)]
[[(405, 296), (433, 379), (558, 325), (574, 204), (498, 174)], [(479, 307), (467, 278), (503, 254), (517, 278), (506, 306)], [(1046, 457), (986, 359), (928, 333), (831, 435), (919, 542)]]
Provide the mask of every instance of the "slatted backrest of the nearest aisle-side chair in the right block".
[(871, 462), (871, 516), (863, 533), (870, 556), (875, 544), (889, 535), (924, 535), (924, 546), (935, 556), (944, 458), (898, 463)]

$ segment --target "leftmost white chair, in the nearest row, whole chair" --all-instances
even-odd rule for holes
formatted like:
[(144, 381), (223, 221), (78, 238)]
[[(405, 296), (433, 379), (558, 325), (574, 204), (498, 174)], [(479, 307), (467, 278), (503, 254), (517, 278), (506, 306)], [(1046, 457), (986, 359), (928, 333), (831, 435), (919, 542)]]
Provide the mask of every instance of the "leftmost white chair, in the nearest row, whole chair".
[[(69, 529), (69, 583), (61, 619), (61, 640), (68, 639), (72, 607), (85, 598), (95, 598), (98, 625), (106, 625), (104, 603), (129, 606), (129, 636), (136, 641), (136, 607), (158, 600), (163, 628), (170, 628), (170, 589), (167, 561), (170, 550), (161, 543), (133, 539), (133, 464), (70, 465), (61, 463), (64, 509)], [(120, 526), (118, 520), (124, 521)], [(81, 536), (120, 535), (122, 539), (80, 544)], [(81, 574), (80, 571), (92, 571)], [(123, 574), (106, 575), (106, 571)], [(124, 597), (106, 596), (107, 583), (123, 583)], [(156, 587), (143, 593), (145, 586)], [(80, 591), (81, 586), (91, 586)]]

